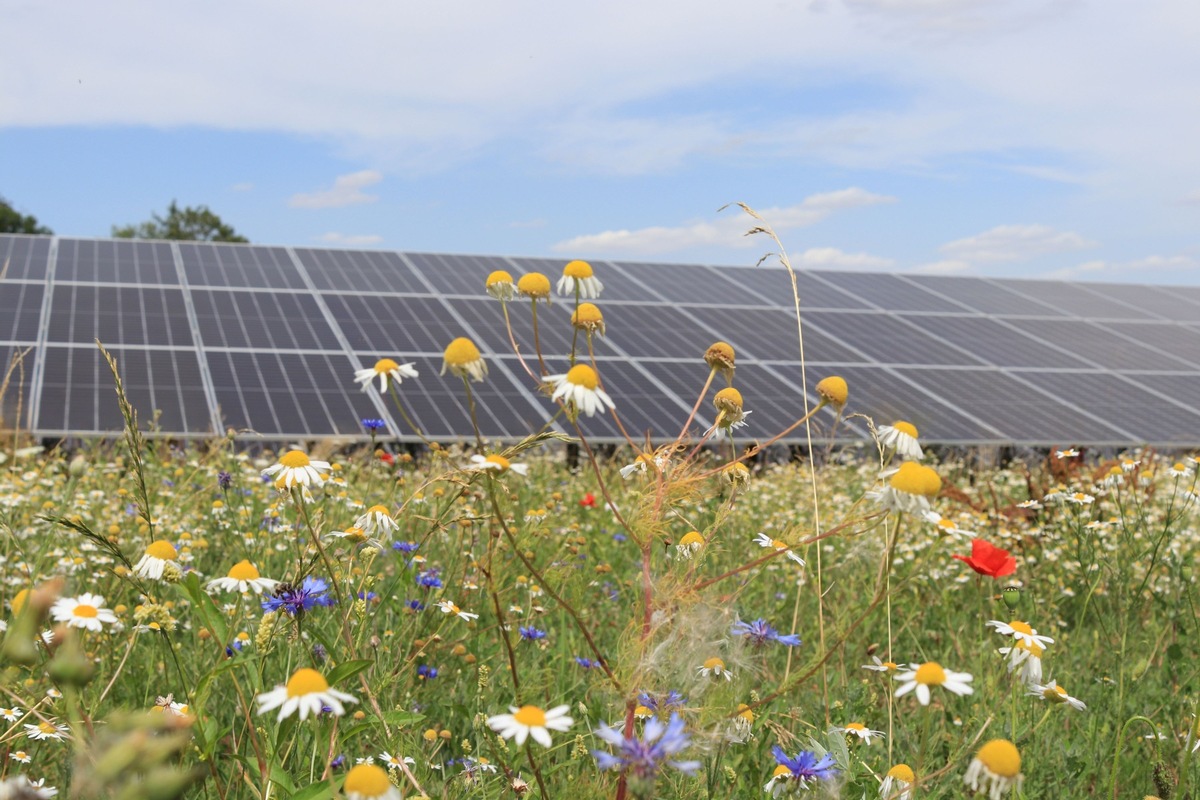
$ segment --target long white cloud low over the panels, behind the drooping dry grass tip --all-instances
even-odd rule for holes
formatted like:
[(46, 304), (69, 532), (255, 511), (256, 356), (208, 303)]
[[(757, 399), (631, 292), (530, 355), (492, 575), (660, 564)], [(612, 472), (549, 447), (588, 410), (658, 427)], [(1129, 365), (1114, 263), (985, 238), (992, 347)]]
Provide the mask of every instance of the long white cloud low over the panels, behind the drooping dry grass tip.
[[(810, 194), (797, 205), (787, 207), (755, 209), (776, 233), (791, 228), (805, 228), (821, 222), (835, 211), (895, 203), (894, 197), (876, 194), (858, 187)], [(584, 234), (552, 245), (556, 252), (571, 253), (671, 253), (692, 247), (761, 247), (762, 240), (754, 240), (745, 233), (754, 227), (754, 219), (740, 212), (727, 211), (713, 219), (696, 221), (683, 225), (638, 228), (636, 230), (605, 230)]]

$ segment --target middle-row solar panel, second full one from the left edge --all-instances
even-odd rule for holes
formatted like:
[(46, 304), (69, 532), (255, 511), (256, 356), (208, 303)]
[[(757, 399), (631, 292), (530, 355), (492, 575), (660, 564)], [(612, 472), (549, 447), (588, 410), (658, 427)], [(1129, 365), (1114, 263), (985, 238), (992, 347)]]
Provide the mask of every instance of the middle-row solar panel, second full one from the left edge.
[(342, 350), (311, 294), (193, 288), (192, 303), (205, 347)]

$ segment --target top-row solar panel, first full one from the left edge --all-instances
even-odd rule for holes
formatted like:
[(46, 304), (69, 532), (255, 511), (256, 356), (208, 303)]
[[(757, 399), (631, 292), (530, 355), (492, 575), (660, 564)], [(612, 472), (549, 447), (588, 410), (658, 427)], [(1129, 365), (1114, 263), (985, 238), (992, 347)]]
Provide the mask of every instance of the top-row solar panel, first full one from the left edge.
[(132, 239), (59, 241), (54, 281), (179, 285), (170, 243)]

